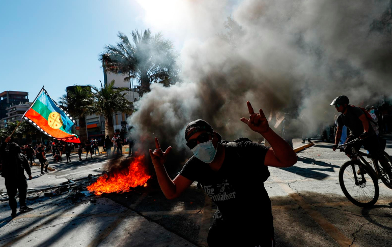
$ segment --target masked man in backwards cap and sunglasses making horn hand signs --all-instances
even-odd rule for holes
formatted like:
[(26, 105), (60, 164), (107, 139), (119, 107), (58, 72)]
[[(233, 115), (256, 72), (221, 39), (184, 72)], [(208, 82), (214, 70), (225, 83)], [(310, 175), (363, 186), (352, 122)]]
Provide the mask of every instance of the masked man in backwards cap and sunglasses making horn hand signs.
[(290, 145), (269, 128), (263, 111), (255, 113), (249, 102), (247, 107), (249, 119), (240, 120), (271, 147), (250, 141), (225, 145), (206, 121), (192, 121), (185, 129), (185, 139), (194, 155), (174, 180), (164, 168), (172, 147), (163, 152), (155, 138), (156, 149), (150, 149), (159, 186), (167, 199), (178, 197), (198, 181), (216, 203), (207, 238), (210, 247), (274, 245), (271, 201), (263, 184), (270, 175), (267, 167), (290, 167), (297, 162)]

